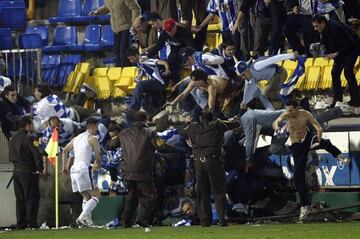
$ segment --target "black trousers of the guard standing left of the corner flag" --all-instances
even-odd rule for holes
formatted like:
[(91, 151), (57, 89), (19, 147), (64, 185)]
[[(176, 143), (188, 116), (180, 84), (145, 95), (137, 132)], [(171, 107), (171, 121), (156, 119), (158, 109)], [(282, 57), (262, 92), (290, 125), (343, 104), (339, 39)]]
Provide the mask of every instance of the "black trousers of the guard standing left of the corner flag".
[(40, 191), (39, 175), (14, 169), (17, 228), (37, 228)]

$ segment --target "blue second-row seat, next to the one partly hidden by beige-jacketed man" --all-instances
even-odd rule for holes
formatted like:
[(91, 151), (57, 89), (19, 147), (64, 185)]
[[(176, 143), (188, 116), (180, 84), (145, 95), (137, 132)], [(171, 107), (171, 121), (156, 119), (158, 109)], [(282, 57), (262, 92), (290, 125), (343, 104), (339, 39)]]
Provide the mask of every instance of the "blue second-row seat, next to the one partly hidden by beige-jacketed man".
[(81, 45), (69, 46), (70, 51), (99, 51), (101, 39), (101, 26), (89, 25), (85, 29), (85, 39)]

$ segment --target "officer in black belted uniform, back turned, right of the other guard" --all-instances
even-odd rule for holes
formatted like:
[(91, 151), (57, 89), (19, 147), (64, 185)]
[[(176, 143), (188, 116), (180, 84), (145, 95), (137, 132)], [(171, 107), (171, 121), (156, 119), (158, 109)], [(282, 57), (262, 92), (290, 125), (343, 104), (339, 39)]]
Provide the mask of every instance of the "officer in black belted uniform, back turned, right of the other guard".
[(213, 193), (216, 210), (219, 214), (219, 225), (225, 222), (225, 170), (221, 159), (221, 148), (224, 133), (239, 127), (239, 121), (213, 120), (213, 113), (204, 110), (200, 123), (192, 123), (185, 129), (192, 144), (195, 174), (198, 214), (202, 226), (211, 225), (210, 193)]

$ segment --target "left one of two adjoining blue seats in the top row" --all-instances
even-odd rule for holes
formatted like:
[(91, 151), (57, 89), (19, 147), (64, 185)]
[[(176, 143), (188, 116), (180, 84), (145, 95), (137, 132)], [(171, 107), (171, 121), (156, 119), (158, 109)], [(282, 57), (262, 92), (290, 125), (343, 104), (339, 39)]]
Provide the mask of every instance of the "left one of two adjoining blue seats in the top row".
[(74, 17), (81, 14), (80, 0), (60, 0), (58, 13), (56, 17), (51, 17), (51, 23), (72, 22)]

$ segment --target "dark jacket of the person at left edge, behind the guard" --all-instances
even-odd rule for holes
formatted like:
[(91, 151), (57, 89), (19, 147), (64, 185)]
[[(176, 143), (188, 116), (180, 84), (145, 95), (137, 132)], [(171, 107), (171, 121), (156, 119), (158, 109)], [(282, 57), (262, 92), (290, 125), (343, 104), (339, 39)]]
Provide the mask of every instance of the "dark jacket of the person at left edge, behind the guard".
[(18, 95), (16, 104), (11, 103), (5, 97), (0, 101), (0, 120), (1, 129), (7, 139), (11, 137), (11, 131), (16, 131), (16, 120), (24, 115), (24, 111), (29, 111), (30, 103)]

